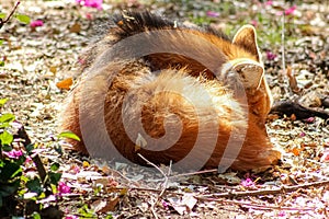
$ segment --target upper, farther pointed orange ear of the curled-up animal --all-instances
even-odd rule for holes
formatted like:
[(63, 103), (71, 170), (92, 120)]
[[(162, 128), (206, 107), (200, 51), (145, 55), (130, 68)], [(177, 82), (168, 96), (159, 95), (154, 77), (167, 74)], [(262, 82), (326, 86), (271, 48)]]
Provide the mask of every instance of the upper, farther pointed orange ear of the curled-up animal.
[(252, 25), (243, 25), (239, 28), (232, 39), (232, 43), (241, 46), (247, 51), (254, 55), (258, 61), (261, 61), (261, 53), (257, 45), (257, 33)]

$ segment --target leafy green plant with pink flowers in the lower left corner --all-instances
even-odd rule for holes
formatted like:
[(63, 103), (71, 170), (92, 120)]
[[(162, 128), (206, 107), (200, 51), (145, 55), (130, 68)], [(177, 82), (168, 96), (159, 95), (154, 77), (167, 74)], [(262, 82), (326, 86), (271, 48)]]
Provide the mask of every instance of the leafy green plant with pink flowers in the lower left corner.
[[(0, 110), (8, 100), (0, 100)], [(70, 137), (72, 135), (63, 134)], [(61, 173), (57, 162), (49, 163), (46, 171), (41, 158), (35, 151), (24, 127), (15, 120), (13, 114), (0, 113), (0, 218), (8, 216), (32, 216), (37, 218), (46, 208), (41, 200), (49, 198), (57, 200), (63, 193), (69, 192), (69, 186), (59, 183)], [(35, 170), (29, 171), (29, 170)], [(35, 174), (36, 173), (36, 174)], [(29, 206), (29, 207), (27, 207)], [(55, 203), (56, 206), (56, 203)], [(54, 214), (54, 209), (52, 209)], [(61, 215), (55, 207), (55, 212)]]

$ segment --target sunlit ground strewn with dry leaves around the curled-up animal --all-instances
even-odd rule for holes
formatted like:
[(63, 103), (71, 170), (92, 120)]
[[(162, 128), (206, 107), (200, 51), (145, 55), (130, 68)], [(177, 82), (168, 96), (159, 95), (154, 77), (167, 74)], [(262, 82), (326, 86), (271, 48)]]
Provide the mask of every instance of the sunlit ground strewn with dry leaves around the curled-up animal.
[[(1, 2), (0, 12), (13, 5)], [(270, 115), (268, 131), (283, 152), (282, 163), (248, 173), (163, 175), (54, 149), (64, 145), (56, 140), (57, 125), (69, 92), (57, 83), (76, 81), (79, 54), (94, 38), (97, 24), (128, 8), (212, 25), (229, 36), (242, 24), (254, 25), (274, 100), (298, 100), (329, 113), (328, 2), (105, 0), (102, 7), (25, 0), (18, 12), (43, 24), (32, 27), (13, 19), (0, 30), (0, 99), (9, 99), (1, 113), (16, 116), (44, 163), (58, 162), (70, 187), (44, 206), (57, 205), (66, 218), (329, 218), (329, 123), (320, 117)], [(288, 83), (287, 71), (296, 85)]]

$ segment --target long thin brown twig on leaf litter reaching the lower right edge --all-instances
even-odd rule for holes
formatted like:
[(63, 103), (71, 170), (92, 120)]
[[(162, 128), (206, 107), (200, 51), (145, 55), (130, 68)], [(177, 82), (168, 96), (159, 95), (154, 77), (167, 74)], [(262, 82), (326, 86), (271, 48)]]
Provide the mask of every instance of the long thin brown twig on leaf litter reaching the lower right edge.
[(320, 182), (313, 182), (306, 183), (302, 185), (293, 185), (293, 186), (282, 186), (281, 188), (274, 189), (263, 189), (263, 191), (247, 191), (247, 192), (228, 192), (228, 193), (215, 193), (211, 195), (204, 195), (200, 197), (216, 197), (216, 198), (227, 198), (227, 197), (243, 197), (243, 196), (258, 196), (258, 195), (275, 195), (282, 193), (291, 193), (300, 188), (308, 188), (308, 187), (317, 187), (329, 185), (328, 181), (320, 181)]

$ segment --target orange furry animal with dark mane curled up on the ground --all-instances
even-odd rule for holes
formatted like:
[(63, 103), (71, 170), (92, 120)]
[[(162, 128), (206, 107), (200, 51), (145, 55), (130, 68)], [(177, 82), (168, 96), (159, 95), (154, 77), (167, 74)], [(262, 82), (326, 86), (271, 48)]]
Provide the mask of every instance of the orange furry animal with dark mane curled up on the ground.
[[(144, 49), (157, 53), (134, 56)], [(76, 150), (115, 159), (111, 139), (132, 162), (184, 161), (184, 169), (250, 170), (280, 159), (265, 130), (272, 99), (252, 26), (230, 41), (211, 28), (125, 12), (82, 62), (60, 126), (82, 138), (71, 141)]]

